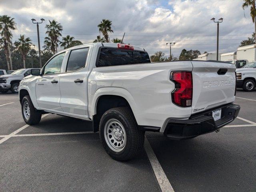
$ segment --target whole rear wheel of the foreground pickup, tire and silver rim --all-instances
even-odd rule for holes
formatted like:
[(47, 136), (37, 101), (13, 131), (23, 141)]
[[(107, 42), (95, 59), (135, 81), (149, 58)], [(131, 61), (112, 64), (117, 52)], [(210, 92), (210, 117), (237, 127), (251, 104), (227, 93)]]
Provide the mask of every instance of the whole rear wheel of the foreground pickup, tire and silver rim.
[(132, 110), (126, 107), (106, 111), (99, 132), (104, 149), (115, 160), (130, 160), (144, 144), (144, 132), (138, 129)]

